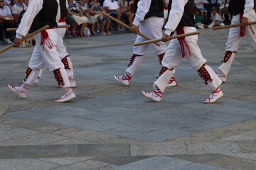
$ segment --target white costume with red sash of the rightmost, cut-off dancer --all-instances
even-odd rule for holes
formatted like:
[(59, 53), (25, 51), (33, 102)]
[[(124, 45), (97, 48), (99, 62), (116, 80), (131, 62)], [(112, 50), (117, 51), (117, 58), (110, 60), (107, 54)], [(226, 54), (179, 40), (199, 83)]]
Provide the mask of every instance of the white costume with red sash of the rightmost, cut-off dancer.
[[(249, 22), (256, 21), (256, 13), (253, 0), (230, 0), (228, 6), (230, 15), (233, 15), (231, 24), (241, 23), (242, 17), (248, 18)], [(256, 52), (256, 27), (255, 25), (247, 27), (234, 27), (230, 28), (228, 35), (228, 42), (226, 43), (226, 52), (224, 59), (220, 67), (218, 67), (218, 77), (223, 82), (226, 82), (226, 77), (230, 72), (231, 64), (235, 59), (235, 55), (238, 52), (238, 47), (242, 37), (245, 37), (252, 50)]]

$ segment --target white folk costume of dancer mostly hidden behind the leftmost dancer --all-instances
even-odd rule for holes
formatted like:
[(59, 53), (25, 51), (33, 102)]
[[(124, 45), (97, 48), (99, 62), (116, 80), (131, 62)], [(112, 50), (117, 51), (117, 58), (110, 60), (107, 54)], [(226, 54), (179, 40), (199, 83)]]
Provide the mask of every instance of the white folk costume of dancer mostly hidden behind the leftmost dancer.
[[(60, 0), (60, 20), (58, 21), (58, 26), (64, 26), (65, 23), (65, 17), (67, 16), (68, 11), (68, 2), (66, 0)], [(68, 55), (67, 49), (63, 42), (63, 37), (66, 32), (66, 28), (57, 28), (56, 29), (58, 33), (58, 40), (56, 44), (56, 48), (58, 51), (58, 54), (60, 55), (60, 60), (63, 62), (64, 67), (68, 73), (68, 79), (70, 80), (70, 87), (75, 88), (75, 79), (74, 79), (74, 71), (73, 71), (73, 64), (70, 60), (70, 55)], [(40, 69), (40, 72), (38, 74), (37, 79), (34, 81), (35, 84), (39, 84), (39, 79), (42, 77), (43, 73), (46, 72), (48, 67), (44, 67), (43, 69)], [(61, 84), (57, 85), (58, 87), (62, 87)]]

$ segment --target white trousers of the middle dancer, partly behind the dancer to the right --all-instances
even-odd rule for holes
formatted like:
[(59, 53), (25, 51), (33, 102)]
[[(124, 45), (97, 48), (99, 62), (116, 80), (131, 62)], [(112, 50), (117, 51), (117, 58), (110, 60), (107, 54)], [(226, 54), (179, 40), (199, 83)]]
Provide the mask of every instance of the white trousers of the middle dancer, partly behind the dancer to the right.
[[(162, 38), (163, 36), (163, 33), (162, 33), (163, 26), (164, 26), (164, 18), (150, 17), (150, 18), (146, 18), (146, 20), (140, 23), (139, 31), (151, 39), (159, 39), (159, 38)], [(142, 38), (142, 36), (140, 35), (137, 35), (135, 42), (137, 43), (142, 41), (146, 41), (146, 39)], [(154, 52), (156, 53), (156, 55), (161, 55), (164, 52), (166, 52), (167, 47), (164, 44), (164, 42), (159, 42), (159, 43), (161, 44), (160, 46), (155, 45), (153, 43), (150, 44)], [(132, 76), (134, 72), (137, 70), (137, 68), (139, 67), (139, 64), (142, 62), (143, 56), (146, 54), (146, 50), (148, 48), (149, 48), (149, 44), (133, 47), (133, 51), (132, 51), (133, 54), (140, 55), (140, 56), (136, 57), (132, 65), (127, 68), (126, 72), (130, 76)]]

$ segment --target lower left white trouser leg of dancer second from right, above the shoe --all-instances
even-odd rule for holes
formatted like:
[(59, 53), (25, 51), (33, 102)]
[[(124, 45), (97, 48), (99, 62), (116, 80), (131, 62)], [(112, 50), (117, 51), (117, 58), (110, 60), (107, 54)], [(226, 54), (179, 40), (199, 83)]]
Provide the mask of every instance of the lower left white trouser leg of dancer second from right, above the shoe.
[(174, 77), (174, 71), (167, 69), (164, 74), (161, 74), (161, 76), (154, 81), (153, 88), (156, 89), (158, 87), (162, 92), (164, 92), (171, 77)]

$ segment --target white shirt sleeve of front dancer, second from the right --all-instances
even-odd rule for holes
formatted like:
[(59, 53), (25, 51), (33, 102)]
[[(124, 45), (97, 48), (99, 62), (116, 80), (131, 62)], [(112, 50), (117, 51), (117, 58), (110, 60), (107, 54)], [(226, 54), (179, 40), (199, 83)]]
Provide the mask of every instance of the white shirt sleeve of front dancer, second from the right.
[(184, 13), (185, 5), (188, 0), (174, 0), (171, 4), (171, 11), (169, 13), (169, 19), (164, 27), (166, 29), (165, 34), (171, 35), (171, 32), (176, 30), (178, 23), (180, 23), (181, 18)]

